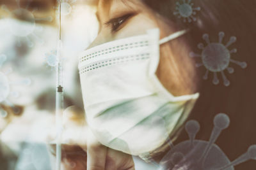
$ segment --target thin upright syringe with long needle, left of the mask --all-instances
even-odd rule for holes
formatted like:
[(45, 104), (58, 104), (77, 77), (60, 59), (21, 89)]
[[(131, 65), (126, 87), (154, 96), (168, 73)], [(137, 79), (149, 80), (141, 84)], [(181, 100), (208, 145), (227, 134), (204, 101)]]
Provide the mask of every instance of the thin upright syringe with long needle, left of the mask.
[(63, 112), (63, 60), (61, 56), (61, 0), (59, 3), (59, 39), (57, 46), (57, 66), (56, 66), (56, 170), (61, 169), (61, 131)]

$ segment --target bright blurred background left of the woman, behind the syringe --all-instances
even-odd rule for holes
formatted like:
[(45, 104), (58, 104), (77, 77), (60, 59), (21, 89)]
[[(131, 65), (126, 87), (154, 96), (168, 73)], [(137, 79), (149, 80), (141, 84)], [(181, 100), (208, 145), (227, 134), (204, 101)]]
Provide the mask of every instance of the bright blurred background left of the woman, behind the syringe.
[[(1, 170), (51, 169), (47, 138), (54, 132), (56, 1), (0, 0)], [(97, 36), (96, 3), (62, 1), (65, 108), (83, 108), (77, 54)]]

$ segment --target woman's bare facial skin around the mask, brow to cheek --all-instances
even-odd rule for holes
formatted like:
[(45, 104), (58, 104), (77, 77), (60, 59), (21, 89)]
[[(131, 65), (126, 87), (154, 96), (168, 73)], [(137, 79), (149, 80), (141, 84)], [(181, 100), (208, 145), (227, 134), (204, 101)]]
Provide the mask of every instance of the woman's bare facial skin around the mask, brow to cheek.
[[(163, 17), (138, 0), (100, 0), (97, 17), (99, 34), (89, 48), (115, 39), (145, 34), (153, 28), (159, 28), (160, 38), (179, 31), (175, 29), (175, 24), (167, 24)], [(189, 48), (185, 42), (179, 38), (160, 46), (161, 57), (156, 75), (174, 96), (196, 92), (195, 66), (188, 57)]]

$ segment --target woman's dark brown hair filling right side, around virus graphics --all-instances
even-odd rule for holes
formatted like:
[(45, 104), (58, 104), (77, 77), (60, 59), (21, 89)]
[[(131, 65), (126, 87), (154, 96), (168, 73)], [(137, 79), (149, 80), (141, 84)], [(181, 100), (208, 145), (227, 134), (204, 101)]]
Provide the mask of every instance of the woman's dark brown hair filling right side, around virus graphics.
[[(246, 69), (236, 64), (234, 74), (224, 71), (230, 85), (225, 87), (221, 74), (218, 73), (220, 83), (212, 83), (213, 74), (209, 72), (208, 80), (202, 80), (205, 74), (205, 67), (198, 68), (198, 77), (202, 80), (199, 83), (200, 98), (188, 119), (195, 119), (200, 123), (200, 131), (196, 139), (209, 140), (213, 128), (213, 118), (217, 113), (226, 113), (230, 117), (230, 126), (225, 129), (216, 144), (226, 153), (230, 160), (246, 152), (248, 146), (256, 144), (256, 80), (253, 73), (256, 73), (256, 1), (255, 0), (193, 0), (194, 7), (200, 7), (195, 15), (196, 21), (184, 22), (182, 18), (173, 15), (177, 1), (173, 0), (144, 0), (152, 10), (159, 15), (168, 18), (175, 23), (179, 29), (190, 29), (186, 35), (186, 41), (195, 53), (201, 53), (198, 43), (204, 43), (203, 34), (209, 34), (211, 42), (219, 41), (219, 32), (225, 32), (223, 44), (226, 44), (230, 37), (236, 36), (236, 43), (228, 47), (229, 50), (237, 48), (237, 53), (231, 54), (231, 59), (246, 62)], [(179, 1), (182, 4), (182, 1)], [(187, 1), (186, 1), (187, 2)], [(189, 53), (186, 56), (189, 57)], [(200, 58), (195, 59), (200, 62)], [(182, 67), (182, 66), (181, 66)], [(188, 140), (188, 134), (182, 129), (179, 138), (175, 143)], [(248, 161), (236, 166), (236, 169), (252, 169), (256, 167), (255, 161)]]

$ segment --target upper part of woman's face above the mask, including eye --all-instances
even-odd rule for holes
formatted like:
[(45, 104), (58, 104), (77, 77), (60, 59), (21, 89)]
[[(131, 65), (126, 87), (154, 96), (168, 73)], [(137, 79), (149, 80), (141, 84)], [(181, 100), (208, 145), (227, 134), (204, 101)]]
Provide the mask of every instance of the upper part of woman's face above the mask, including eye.
[(97, 17), (100, 22), (99, 34), (90, 47), (144, 34), (147, 29), (157, 27), (154, 16), (138, 0), (100, 0)]

